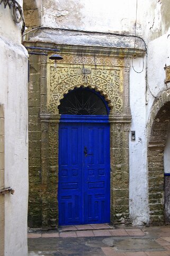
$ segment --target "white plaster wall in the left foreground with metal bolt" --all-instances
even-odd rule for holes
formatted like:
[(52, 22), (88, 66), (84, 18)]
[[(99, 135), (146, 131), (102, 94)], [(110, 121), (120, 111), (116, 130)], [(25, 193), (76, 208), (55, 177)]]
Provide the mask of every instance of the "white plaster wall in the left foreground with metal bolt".
[(5, 114), (5, 256), (26, 256), (28, 212), (28, 55), (20, 24), (0, 5), (0, 102)]

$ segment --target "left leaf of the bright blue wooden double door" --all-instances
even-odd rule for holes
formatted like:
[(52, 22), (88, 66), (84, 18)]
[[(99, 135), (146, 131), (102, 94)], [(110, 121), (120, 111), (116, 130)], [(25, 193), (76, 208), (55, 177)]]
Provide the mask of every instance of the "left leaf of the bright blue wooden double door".
[(59, 125), (59, 225), (82, 222), (82, 125)]

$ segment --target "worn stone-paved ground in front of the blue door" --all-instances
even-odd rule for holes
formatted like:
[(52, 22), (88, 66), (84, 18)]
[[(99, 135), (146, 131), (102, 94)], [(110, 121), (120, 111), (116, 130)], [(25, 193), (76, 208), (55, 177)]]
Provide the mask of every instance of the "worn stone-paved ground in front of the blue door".
[(29, 256), (170, 256), (170, 226), (63, 226), (29, 232)]

